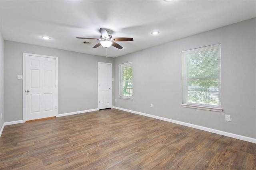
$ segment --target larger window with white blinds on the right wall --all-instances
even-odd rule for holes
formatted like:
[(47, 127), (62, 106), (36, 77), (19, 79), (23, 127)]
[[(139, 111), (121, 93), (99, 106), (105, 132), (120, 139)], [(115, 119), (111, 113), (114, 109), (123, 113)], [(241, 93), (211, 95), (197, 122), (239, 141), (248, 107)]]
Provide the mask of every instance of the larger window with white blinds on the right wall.
[(220, 107), (220, 44), (182, 51), (183, 104)]

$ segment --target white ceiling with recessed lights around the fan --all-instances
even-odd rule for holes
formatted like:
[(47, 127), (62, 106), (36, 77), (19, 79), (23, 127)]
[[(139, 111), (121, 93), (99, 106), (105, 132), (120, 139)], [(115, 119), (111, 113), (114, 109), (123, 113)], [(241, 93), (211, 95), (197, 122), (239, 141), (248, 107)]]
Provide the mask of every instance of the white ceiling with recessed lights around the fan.
[(123, 49), (108, 48), (108, 57), (254, 17), (256, 0), (0, 0), (4, 39), (100, 56), (106, 55), (104, 47), (92, 49), (98, 40), (76, 37), (99, 38), (105, 28), (113, 37), (134, 39), (117, 42)]

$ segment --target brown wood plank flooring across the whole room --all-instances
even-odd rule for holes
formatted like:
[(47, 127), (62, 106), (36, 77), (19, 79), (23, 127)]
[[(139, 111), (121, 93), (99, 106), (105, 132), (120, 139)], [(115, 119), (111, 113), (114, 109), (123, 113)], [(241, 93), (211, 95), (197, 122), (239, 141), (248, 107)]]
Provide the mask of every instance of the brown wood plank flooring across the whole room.
[(256, 144), (105, 109), (5, 126), (0, 169), (255, 170)]

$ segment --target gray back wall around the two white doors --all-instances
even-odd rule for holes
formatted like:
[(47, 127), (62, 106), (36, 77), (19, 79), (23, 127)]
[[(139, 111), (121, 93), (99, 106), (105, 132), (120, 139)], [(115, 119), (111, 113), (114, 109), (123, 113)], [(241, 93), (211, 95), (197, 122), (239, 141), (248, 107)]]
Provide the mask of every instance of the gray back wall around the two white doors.
[[(59, 114), (98, 108), (98, 62), (113, 58), (4, 41), (4, 122), (22, 120), (22, 53), (58, 57)], [(113, 68), (114, 70), (114, 68)]]

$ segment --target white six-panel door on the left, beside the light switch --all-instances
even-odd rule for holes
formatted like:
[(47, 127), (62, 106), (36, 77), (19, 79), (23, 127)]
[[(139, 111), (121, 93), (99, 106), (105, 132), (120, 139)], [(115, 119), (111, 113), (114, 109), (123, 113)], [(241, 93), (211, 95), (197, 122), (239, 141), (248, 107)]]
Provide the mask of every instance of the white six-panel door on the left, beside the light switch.
[(56, 59), (25, 55), (26, 121), (56, 116)]

